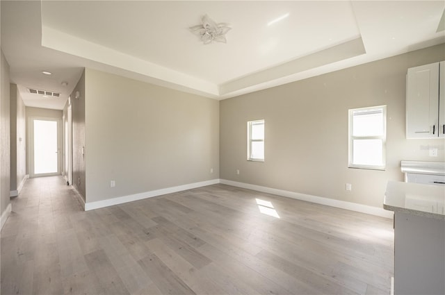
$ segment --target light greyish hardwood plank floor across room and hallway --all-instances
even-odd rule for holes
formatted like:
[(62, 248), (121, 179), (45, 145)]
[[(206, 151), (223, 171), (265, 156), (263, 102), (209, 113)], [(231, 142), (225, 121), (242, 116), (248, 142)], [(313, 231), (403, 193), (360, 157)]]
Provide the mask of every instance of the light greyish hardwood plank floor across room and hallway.
[(12, 205), (3, 295), (389, 294), (390, 219), (227, 185), (83, 212), (60, 176)]

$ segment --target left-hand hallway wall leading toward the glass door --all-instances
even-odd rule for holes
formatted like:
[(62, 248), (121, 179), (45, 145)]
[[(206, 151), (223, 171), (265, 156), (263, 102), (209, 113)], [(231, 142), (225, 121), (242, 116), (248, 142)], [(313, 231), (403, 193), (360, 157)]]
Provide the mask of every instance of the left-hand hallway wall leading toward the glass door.
[[(26, 175), (25, 106), (17, 85), (10, 84), (11, 192), (17, 191)], [(15, 192), (17, 194), (17, 192)]]

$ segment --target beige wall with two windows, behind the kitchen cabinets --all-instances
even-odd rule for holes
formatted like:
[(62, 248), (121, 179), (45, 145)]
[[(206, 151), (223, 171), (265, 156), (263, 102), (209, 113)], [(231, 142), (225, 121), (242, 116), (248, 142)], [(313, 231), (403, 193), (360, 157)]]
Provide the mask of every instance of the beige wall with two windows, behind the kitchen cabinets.
[[(405, 139), (407, 68), (439, 60), (444, 44), (221, 101), (220, 178), (381, 208), (387, 181), (403, 180), (401, 160), (445, 161), (444, 140)], [(380, 105), (387, 169), (349, 169), (348, 109)], [(246, 160), (254, 119), (266, 120), (265, 162)]]

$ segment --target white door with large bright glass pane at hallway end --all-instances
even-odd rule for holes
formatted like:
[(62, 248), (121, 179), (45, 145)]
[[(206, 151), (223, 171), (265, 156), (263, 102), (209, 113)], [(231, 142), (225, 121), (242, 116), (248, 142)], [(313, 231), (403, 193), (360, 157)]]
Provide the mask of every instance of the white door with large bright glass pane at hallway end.
[(31, 119), (31, 177), (60, 174), (60, 121)]

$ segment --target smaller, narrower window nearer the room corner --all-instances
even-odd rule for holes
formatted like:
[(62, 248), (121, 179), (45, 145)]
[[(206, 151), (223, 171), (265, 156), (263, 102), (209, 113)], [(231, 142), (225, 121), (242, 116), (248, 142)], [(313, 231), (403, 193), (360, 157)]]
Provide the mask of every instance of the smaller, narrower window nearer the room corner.
[(264, 162), (264, 120), (248, 121), (248, 161)]

